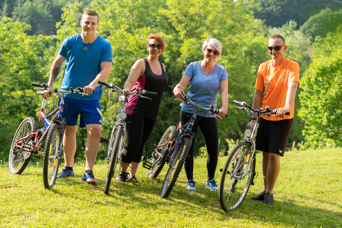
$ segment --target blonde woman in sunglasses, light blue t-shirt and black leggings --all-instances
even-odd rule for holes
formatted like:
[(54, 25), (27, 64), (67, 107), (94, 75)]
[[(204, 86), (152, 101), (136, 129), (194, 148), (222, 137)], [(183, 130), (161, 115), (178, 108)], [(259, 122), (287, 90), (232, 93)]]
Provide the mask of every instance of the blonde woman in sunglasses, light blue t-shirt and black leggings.
[[(214, 38), (204, 41), (202, 44), (203, 60), (188, 65), (181, 81), (173, 89), (173, 93), (176, 98), (184, 99), (184, 90), (190, 84), (189, 92), (186, 94), (189, 99), (201, 106), (213, 105), (216, 108), (216, 98), (220, 92), (222, 107), (219, 109), (218, 115), (224, 118), (228, 110), (228, 76), (226, 68), (215, 63), (221, 58), (221, 51), (220, 41)], [(193, 110), (193, 105), (183, 103), (180, 114), (182, 125), (190, 120)], [(216, 185), (214, 176), (219, 156), (219, 131), (215, 116), (204, 110), (199, 111), (192, 131), (197, 133), (198, 127), (201, 129), (208, 150), (206, 188), (217, 191), (219, 187)], [(189, 190), (196, 190), (196, 182), (193, 177), (195, 142), (196, 140), (193, 140), (184, 163), (188, 178), (187, 189)]]

